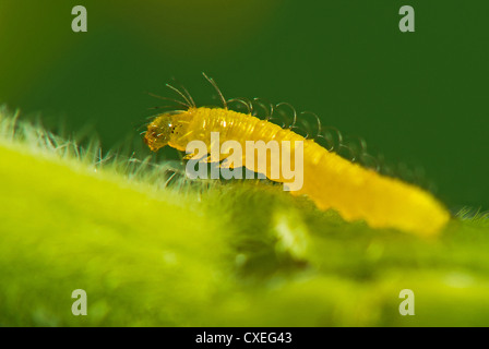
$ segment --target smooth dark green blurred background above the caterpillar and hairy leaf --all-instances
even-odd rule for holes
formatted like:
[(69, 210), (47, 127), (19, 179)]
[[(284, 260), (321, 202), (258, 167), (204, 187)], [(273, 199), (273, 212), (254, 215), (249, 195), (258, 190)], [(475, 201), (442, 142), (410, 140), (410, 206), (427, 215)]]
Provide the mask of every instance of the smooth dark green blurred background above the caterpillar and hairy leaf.
[[(87, 9), (73, 33), (71, 9)], [(401, 33), (398, 10), (416, 11)], [(487, 1), (0, 0), (0, 104), (120, 146), (172, 76), (317, 112), (373, 154), (421, 166), (451, 207), (489, 208)]]

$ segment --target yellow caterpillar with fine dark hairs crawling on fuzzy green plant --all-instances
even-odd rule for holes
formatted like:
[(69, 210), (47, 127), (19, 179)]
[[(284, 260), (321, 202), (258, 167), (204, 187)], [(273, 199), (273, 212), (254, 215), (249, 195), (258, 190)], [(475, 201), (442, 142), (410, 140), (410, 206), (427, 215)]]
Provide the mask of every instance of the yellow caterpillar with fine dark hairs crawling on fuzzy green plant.
[[(144, 141), (152, 151), (169, 145), (184, 152), (191, 141), (205, 142), (211, 149), (211, 132), (219, 132), (220, 143), (234, 140), (243, 147), (246, 141), (302, 141), (303, 185), (291, 194), (306, 194), (320, 209), (333, 208), (345, 220), (363, 219), (373, 228), (396, 228), (421, 236), (437, 234), (450, 219), (448, 210), (430, 193), (415, 185), (344, 159), (290, 129), (229, 110), (214, 81), (205, 77), (219, 93), (224, 108), (198, 108), (184, 88), (187, 95), (168, 85), (183, 97), (186, 103), (178, 103), (186, 109), (159, 115), (148, 124)], [(248, 164), (246, 167), (257, 169)], [(270, 168), (265, 176), (285, 182), (272, 178)]]

